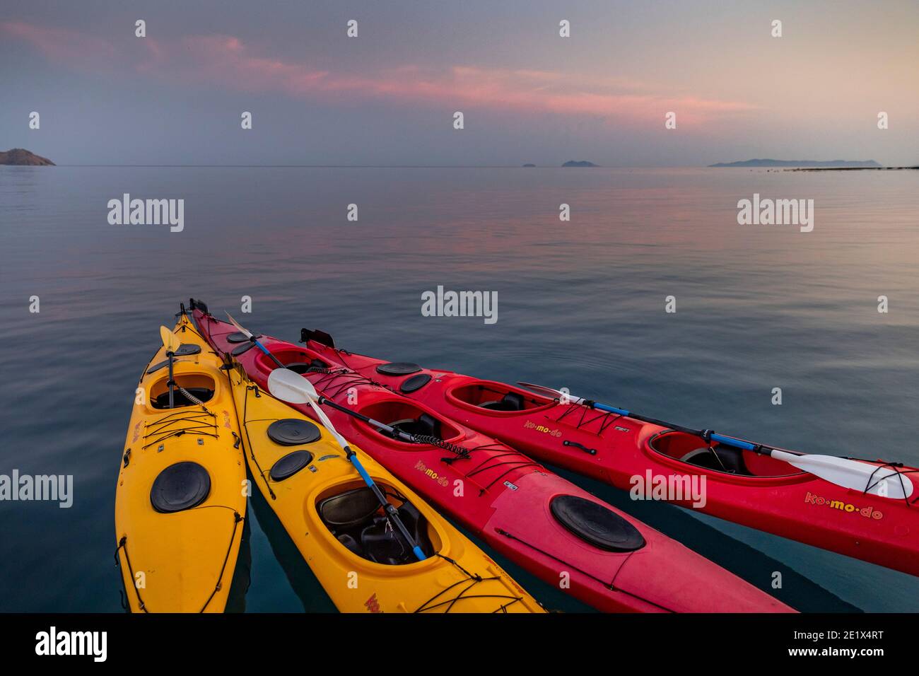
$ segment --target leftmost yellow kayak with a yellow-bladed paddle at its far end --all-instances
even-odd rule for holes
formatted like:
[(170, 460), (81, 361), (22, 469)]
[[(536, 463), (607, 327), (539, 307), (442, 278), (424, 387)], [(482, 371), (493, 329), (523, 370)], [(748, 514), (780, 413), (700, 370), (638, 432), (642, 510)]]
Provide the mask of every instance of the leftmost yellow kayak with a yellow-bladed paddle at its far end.
[(133, 613), (221, 613), (246, 507), (239, 424), (221, 360), (186, 315), (173, 333), (173, 407), (166, 345), (135, 393), (115, 495), (119, 568)]

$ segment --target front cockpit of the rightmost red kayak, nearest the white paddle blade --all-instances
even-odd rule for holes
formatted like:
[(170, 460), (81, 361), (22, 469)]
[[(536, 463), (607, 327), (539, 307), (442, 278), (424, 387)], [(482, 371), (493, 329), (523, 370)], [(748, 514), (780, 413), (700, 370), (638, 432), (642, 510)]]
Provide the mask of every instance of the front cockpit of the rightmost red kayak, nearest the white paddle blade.
[(686, 432), (662, 432), (652, 437), (648, 445), (652, 451), (710, 472), (738, 476), (788, 476), (802, 473), (797, 467), (782, 460), (717, 442), (706, 444), (698, 436)]

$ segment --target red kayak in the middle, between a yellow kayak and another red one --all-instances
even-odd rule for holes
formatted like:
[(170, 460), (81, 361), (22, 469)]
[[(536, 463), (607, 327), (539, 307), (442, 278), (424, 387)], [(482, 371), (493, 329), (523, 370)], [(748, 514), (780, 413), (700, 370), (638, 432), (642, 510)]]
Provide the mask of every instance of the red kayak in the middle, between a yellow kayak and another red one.
[[(303, 373), (335, 404), (431, 441), (397, 441), (379, 427), (330, 405), (323, 407), (347, 441), (439, 510), (519, 566), (596, 609), (793, 612), (528, 456), (343, 367), (334, 349), (306, 349), (256, 336), (269, 356), (235, 327), (208, 314), (204, 304), (193, 301), (192, 308), (202, 337), (219, 354), (232, 355), (263, 391), (278, 359)], [(309, 405), (294, 407), (314, 415)]]

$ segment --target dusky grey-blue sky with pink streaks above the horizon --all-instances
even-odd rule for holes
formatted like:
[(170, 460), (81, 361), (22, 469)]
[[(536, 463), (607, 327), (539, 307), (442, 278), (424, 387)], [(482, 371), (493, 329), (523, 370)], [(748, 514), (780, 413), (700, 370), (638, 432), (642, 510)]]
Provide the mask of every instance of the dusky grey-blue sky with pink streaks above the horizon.
[(0, 92), (58, 164), (917, 165), (919, 2), (4, 0)]

